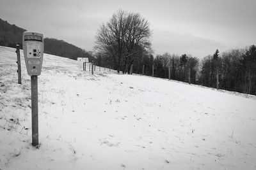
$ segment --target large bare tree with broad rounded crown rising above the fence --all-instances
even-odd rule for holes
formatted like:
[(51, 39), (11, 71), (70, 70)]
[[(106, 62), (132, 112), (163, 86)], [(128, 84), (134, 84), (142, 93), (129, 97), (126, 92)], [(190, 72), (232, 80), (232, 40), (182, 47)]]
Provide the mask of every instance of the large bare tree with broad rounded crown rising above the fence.
[(131, 66), (141, 50), (150, 50), (150, 29), (138, 13), (119, 10), (102, 24), (96, 35), (95, 50), (113, 57), (118, 73)]

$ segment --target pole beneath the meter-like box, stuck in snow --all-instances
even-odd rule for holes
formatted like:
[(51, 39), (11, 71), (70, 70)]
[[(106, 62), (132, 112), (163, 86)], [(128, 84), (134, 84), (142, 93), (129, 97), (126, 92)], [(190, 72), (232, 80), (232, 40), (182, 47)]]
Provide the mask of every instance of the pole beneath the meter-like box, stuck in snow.
[(32, 120), (32, 145), (38, 143), (38, 85), (37, 76), (31, 76), (31, 120)]

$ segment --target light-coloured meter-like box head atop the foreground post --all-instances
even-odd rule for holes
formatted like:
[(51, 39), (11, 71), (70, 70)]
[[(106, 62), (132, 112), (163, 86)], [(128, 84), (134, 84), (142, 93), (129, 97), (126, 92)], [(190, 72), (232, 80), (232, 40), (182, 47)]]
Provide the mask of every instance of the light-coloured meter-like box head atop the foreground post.
[(39, 76), (44, 56), (44, 36), (38, 32), (26, 31), (22, 35), (24, 58), (29, 76)]

